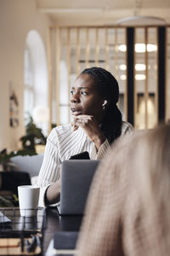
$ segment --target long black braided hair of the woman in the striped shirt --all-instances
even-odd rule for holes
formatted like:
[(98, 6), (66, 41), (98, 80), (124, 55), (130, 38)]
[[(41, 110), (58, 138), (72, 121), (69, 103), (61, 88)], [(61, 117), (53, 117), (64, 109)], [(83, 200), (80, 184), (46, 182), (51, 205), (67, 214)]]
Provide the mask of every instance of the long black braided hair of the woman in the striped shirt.
[(110, 72), (101, 67), (86, 68), (82, 71), (84, 73), (93, 77), (99, 94), (108, 102), (100, 129), (111, 144), (122, 131), (122, 113), (116, 106), (119, 98), (118, 83)]

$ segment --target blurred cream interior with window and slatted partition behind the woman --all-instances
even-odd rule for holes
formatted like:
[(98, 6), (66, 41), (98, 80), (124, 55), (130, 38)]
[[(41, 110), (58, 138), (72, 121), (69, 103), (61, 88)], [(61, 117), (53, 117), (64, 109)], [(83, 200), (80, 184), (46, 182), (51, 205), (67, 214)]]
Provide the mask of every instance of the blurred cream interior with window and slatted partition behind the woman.
[(169, 0), (0, 0), (0, 151), (19, 150), (31, 117), (44, 137), (71, 121), (85, 67), (109, 70), (123, 119), (170, 119)]

